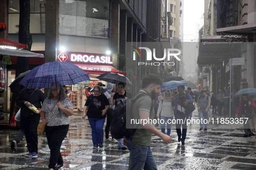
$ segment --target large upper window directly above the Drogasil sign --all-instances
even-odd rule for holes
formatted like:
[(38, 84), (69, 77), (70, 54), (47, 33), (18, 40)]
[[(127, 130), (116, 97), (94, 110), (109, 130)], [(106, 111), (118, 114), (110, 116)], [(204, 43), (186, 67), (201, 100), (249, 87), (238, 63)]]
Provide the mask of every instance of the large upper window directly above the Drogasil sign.
[(109, 38), (108, 0), (60, 0), (59, 33)]

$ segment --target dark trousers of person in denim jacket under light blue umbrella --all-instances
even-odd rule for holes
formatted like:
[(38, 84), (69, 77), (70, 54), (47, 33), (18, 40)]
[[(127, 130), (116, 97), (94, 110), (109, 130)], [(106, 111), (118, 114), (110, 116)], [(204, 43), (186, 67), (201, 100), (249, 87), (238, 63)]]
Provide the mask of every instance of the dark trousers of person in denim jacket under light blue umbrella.
[[(176, 120), (176, 132), (177, 132), (178, 138), (181, 138), (181, 141), (185, 141), (186, 135), (187, 135), (187, 119), (189, 114), (181, 113), (177, 110), (177, 113), (175, 113), (174, 116)], [(182, 125), (182, 133), (181, 133), (181, 125)]]

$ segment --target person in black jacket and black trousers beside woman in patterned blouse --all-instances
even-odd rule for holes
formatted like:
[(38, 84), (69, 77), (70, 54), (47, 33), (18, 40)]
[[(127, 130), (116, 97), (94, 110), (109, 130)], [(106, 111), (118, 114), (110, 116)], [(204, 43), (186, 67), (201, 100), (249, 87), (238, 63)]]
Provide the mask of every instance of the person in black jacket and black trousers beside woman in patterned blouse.
[(45, 95), (38, 88), (23, 88), (17, 98), (16, 105), (20, 107), (20, 129), (24, 130), (27, 147), (29, 153), (26, 157), (38, 157), (38, 139), (37, 126), (40, 120), (40, 114), (29, 109), (29, 105), (33, 104), (38, 111), (41, 110), (41, 103), (45, 100)]

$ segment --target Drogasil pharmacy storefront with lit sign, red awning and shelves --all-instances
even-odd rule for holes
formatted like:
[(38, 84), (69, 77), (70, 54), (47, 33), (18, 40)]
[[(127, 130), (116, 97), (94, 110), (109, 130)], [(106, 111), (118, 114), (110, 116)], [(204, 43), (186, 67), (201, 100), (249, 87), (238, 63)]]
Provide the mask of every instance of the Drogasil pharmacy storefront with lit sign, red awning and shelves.
[[(73, 103), (74, 109), (78, 111), (82, 111), (84, 108), (86, 101), (84, 91), (87, 90), (87, 87), (93, 88), (99, 82), (96, 79), (97, 76), (105, 72), (125, 74), (112, 66), (112, 55), (65, 51), (58, 53), (57, 61), (74, 63), (84, 70), (91, 79), (76, 85), (66, 85), (69, 92), (68, 97)], [(107, 85), (107, 82), (100, 82)]]

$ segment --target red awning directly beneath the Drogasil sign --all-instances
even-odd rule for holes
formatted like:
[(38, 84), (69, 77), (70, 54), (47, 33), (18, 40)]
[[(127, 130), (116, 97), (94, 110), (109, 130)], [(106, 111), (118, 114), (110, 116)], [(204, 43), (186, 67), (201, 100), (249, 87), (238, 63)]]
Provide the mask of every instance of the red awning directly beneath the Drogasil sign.
[(98, 74), (101, 75), (105, 72), (114, 72), (119, 73), (125, 76), (125, 72), (120, 72), (115, 69), (113, 66), (104, 66), (104, 65), (90, 65), (90, 64), (75, 64), (87, 74)]

